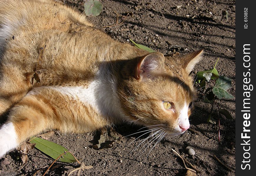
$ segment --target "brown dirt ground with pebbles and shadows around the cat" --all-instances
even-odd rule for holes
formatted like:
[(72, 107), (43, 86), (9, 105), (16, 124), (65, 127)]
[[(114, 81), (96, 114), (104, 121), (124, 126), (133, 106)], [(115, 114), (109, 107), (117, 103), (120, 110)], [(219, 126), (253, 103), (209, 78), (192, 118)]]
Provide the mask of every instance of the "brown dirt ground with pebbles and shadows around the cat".
[[(136, 43), (147, 45), (163, 54), (176, 51), (185, 54), (204, 49), (204, 59), (195, 67), (195, 71), (211, 69), (220, 57), (216, 68), (220, 75), (232, 79), (232, 87), (228, 91), (235, 96), (235, 0), (101, 2), (103, 9), (100, 15), (88, 17), (95, 27), (120, 42), (128, 43), (128, 39), (131, 38)], [(71, 0), (65, 3), (83, 11), (83, 1)], [(227, 20), (222, 19), (224, 10), (228, 12)], [(129, 12), (133, 15), (125, 19), (120, 17)], [(118, 25), (117, 14), (118, 23), (121, 23)], [(202, 101), (202, 96), (202, 91), (199, 90), (196, 108), (190, 117), (191, 130), (174, 138), (164, 138), (155, 146), (153, 142), (148, 148), (143, 147), (143, 144), (134, 150), (141, 142), (139, 140), (147, 137), (142, 136), (130, 144), (140, 136), (137, 134), (124, 137), (114, 143), (112, 148), (103, 150), (92, 148), (99, 132), (66, 135), (56, 133), (49, 140), (72, 151), (77, 158), (83, 159), (85, 165), (93, 166), (90, 170), (82, 171), (81, 175), (184, 176), (187, 170), (172, 148), (201, 170), (202, 173), (199, 175), (235, 175), (235, 172), (229, 171), (214, 158), (216, 155), (222, 163), (235, 170), (235, 99), (220, 101), (220, 106), (229, 110), (233, 119), (221, 119), (221, 142), (218, 142), (217, 125), (207, 123), (211, 106)], [(141, 127), (127, 124), (115, 127), (122, 136), (136, 133), (139, 128)], [(187, 146), (193, 147), (194, 156), (188, 155), (185, 149)], [(37, 170), (53, 162), (35, 148), (29, 151), (26, 165), (20, 165), (17, 156), (19, 153), (13, 151), (0, 161), (0, 175), (33, 175)], [(68, 175), (71, 170), (79, 167), (77, 163), (59, 162), (54, 166), (57, 167), (50, 170), (48, 175)], [(39, 172), (38, 175), (43, 173)], [(76, 172), (72, 175), (76, 175)]]

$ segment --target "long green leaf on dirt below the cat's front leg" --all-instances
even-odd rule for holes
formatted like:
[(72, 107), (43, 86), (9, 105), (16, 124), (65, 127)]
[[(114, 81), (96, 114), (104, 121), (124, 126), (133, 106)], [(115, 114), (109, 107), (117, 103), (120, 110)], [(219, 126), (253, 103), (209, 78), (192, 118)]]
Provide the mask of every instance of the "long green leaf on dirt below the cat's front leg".
[[(64, 153), (64, 151), (68, 151), (66, 148), (62, 147), (59, 144), (56, 144), (54, 142), (47, 141), (45, 139), (41, 139), (38, 137), (32, 138), (30, 143), (35, 143), (36, 144), (35, 147), (38, 150), (45, 153), (46, 155), (49, 155), (53, 159), (58, 158), (59, 155)], [(62, 155), (62, 157), (59, 158), (59, 161), (61, 162), (64, 162), (64, 163), (76, 162), (76, 159), (70, 153), (66, 153), (66, 155)]]

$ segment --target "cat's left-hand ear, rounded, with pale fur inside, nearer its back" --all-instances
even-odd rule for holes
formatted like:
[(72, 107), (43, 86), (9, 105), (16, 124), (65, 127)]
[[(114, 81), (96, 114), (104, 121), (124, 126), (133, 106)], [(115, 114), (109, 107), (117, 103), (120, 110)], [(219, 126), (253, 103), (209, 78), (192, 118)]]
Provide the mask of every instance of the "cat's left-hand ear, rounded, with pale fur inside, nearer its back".
[(164, 55), (162, 53), (150, 53), (141, 57), (135, 70), (135, 78), (151, 77), (164, 71)]

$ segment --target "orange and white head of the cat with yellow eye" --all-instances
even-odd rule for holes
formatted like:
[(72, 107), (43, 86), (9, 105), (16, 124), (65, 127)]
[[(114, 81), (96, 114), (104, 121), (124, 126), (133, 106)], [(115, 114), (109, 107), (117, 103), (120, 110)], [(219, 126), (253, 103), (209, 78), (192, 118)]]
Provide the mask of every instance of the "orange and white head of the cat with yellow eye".
[(189, 128), (196, 99), (190, 73), (203, 50), (179, 56), (150, 53), (131, 60), (122, 70), (118, 95), (127, 121), (161, 135), (177, 136)]

